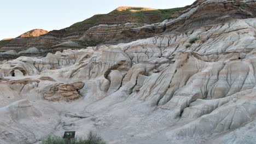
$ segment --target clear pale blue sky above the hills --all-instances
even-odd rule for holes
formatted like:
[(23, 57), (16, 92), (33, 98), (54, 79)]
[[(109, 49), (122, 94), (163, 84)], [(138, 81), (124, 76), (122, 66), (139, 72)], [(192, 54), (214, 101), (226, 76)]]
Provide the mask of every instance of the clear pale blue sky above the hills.
[(195, 0), (13, 0), (0, 5), (0, 40), (15, 38), (31, 29), (47, 31), (71, 26), (95, 14), (120, 6), (168, 9), (190, 5)]

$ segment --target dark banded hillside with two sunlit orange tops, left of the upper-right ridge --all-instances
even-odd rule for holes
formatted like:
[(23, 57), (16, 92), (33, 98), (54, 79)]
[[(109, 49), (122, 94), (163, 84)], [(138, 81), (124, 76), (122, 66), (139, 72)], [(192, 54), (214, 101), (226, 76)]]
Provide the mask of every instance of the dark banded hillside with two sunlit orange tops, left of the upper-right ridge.
[[(8, 44), (4, 43), (5, 45), (2, 45), (0, 41), (0, 47), (2, 47), (1, 50), (6, 51), (22, 51), (30, 49), (30, 47), (37, 47), (37, 49), (43, 51), (40, 52), (39, 55), (45, 56), (46, 52), (56, 52), (60, 49), (75, 49), (77, 47), (95, 46), (95, 43), (88, 43), (82, 46), (78, 45), (78, 43), (73, 44), (78, 46), (70, 47), (69, 44), (72, 43), (72, 40), (80, 39), (82, 41), (96, 41), (97, 44), (103, 42), (114, 43), (117, 41), (115, 39), (120, 39), (123, 37), (123, 31), (129, 30), (131, 28), (142, 27), (156, 22), (161, 22), (168, 16), (172, 16), (175, 12), (182, 10), (184, 10), (184, 8), (161, 10), (141, 7), (119, 7), (108, 14), (95, 15), (82, 22), (74, 23), (74, 25), (70, 27), (54, 30), (49, 33), (42, 29), (34, 29), (32, 31), (26, 32), (25, 34), (22, 34), (18, 38), (9, 41)], [(175, 15), (177, 15), (177, 13), (175, 13)], [(39, 34), (43, 35), (37, 37)], [(127, 39), (127, 41), (131, 40)], [(27, 55), (19, 53), (16, 58), (18, 56)], [(10, 57), (9, 59), (12, 58), (13, 57)]]

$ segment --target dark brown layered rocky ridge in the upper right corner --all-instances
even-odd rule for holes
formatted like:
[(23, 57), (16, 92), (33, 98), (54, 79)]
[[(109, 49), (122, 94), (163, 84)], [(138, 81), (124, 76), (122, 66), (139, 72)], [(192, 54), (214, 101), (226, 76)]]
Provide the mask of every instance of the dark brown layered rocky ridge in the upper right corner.
[(162, 32), (187, 32), (202, 26), (213, 26), (234, 19), (255, 17), (255, 1), (205, 1), (197, 0), (180, 15), (161, 23), (131, 28), (122, 33), (135, 39), (152, 37)]

